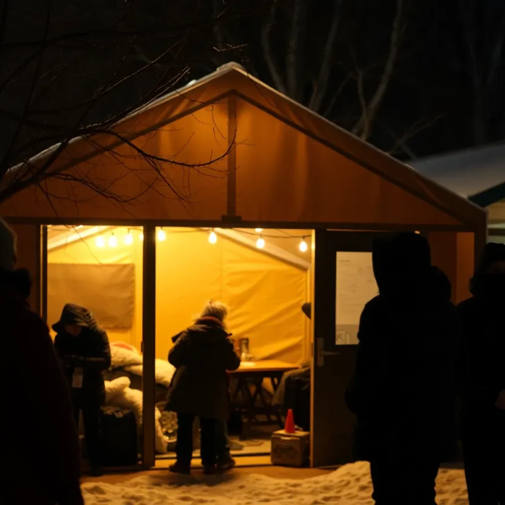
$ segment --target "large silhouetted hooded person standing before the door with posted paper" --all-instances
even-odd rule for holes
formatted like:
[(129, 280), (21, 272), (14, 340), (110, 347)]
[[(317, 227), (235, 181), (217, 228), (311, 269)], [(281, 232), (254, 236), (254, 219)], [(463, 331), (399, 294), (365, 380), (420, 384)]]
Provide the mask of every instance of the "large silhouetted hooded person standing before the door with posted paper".
[(456, 309), (422, 236), (401, 233), (379, 245), (379, 295), (361, 316), (347, 392), (358, 419), (356, 457), (370, 462), (377, 505), (434, 505), (440, 463), (456, 446)]

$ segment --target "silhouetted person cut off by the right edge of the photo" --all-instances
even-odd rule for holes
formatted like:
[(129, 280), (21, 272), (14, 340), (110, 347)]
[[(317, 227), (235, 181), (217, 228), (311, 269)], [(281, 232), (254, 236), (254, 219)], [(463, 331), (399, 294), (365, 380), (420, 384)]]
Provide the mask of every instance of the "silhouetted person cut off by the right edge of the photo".
[(505, 244), (485, 246), (458, 306), (462, 445), (470, 505), (505, 505)]

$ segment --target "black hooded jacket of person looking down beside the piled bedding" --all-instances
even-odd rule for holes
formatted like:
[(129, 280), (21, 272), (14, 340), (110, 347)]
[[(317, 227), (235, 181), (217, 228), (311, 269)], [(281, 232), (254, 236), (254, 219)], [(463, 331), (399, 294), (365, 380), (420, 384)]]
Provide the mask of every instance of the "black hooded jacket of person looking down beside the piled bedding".
[(62, 320), (70, 313), (74, 322), (82, 326), (76, 337), (65, 331), (61, 322), (53, 325), (57, 331), (56, 354), (61, 360), (67, 381), (72, 388), (72, 378), (77, 367), (83, 369), (81, 395), (103, 396), (103, 372), (111, 366), (111, 349), (107, 333), (102, 330), (89, 311), (72, 304), (65, 306)]

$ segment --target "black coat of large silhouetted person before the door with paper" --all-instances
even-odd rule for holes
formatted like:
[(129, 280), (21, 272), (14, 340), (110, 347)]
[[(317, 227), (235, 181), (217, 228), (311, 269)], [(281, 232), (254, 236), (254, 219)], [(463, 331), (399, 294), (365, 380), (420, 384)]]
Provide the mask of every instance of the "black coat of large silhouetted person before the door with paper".
[(393, 450), (453, 456), (457, 334), (450, 284), (434, 267), (388, 283), (366, 305), (347, 393), (359, 459)]

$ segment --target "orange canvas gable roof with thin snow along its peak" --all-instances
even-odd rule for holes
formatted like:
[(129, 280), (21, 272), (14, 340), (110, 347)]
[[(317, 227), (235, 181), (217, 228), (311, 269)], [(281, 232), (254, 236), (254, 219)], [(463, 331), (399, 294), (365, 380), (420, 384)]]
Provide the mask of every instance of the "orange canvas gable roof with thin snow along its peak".
[[(217, 162), (193, 170), (190, 182), (180, 164), (164, 163), (170, 180), (197, 195), (188, 209), (122, 139), (182, 164)], [(232, 140), (233, 156), (225, 157)], [(55, 148), (30, 164), (42, 163)], [(333, 223), (474, 227), (485, 221), (482, 209), (465, 198), (233, 63), (143, 107), (110, 132), (74, 139), (51, 169), (72, 174), (70, 181), (59, 177), (43, 190), (28, 188), (1, 212), (47, 219), (57, 214), (66, 220), (215, 222), (226, 214), (230, 163), (236, 167), (237, 214), (244, 222), (312, 228)], [(116, 185), (126, 196), (139, 192), (144, 198), (127, 209), (111, 203), (75, 181), (82, 173)], [(52, 205), (45, 201), (48, 194)]]

